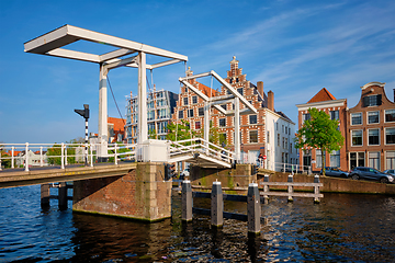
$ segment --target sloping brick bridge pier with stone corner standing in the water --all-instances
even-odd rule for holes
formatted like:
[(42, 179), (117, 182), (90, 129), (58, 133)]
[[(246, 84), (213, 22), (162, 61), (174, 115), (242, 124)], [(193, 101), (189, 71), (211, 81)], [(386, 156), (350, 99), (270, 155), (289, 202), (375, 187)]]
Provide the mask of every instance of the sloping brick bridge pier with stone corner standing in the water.
[(76, 181), (76, 211), (155, 221), (171, 217), (171, 182), (162, 163), (138, 163), (122, 176)]

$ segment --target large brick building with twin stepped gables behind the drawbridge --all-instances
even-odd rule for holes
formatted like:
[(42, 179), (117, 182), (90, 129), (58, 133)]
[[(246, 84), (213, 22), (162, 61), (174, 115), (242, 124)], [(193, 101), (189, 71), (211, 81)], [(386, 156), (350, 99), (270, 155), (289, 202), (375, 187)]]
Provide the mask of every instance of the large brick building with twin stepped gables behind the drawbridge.
[[(238, 67), (238, 62), (239, 61), (236, 60), (236, 57), (233, 57), (233, 60), (230, 61), (230, 70), (227, 71), (227, 77), (225, 78), (225, 81), (232, 84), (233, 88), (235, 88), (242, 96), (246, 98), (247, 101), (249, 101), (258, 110), (258, 114), (240, 115), (240, 130), (238, 130), (237, 133), (240, 133), (241, 135), (240, 148), (241, 153), (244, 153), (242, 158), (251, 161), (257, 160), (259, 153), (262, 153), (263, 156), (270, 153), (272, 157), (268, 157), (268, 159), (270, 159), (270, 161), (272, 161), (273, 163), (289, 163), (291, 160), (294, 161), (294, 163), (297, 163), (296, 151), (292, 151), (290, 149), (290, 146), (292, 147), (292, 144), (286, 144), (286, 147), (284, 144), (283, 148), (274, 147), (274, 144), (272, 144), (272, 151), (267, 151), (268, 145), (266, 139), (268, 116), (271, 117), (269, 125), (275, 125), (276, 123), (281, 122), (280, 127), (287, 127), (286, 139), (289, 141), (293, 140), (292, 138), (294, 137), (294, 132), (291, 133), (291, 130), (294, 130), (294, 128), (292, 127), (291, 129), (291, 126), (294, 126), (295, 124), (289, 117), (286, 117), (285, 114), (274, 111), (274, 93), (272, 91), (269, 91), (268, 95), (264, 94), (262, 81), (259, 81), (257, 85), (255, 85), (249, 80), (247, 80), (246, 75), (242, 73), (242, 69)], [(187, 76), (193, 76), (193, 71), (190, 68), (187, 71)], [(201, 90), (207, 96), (226, 98), (230, 94), (230, 92), (228, 92), (224, 87), (221, 87), (221, 90), (213, 90), (198, 82), (195, 79), (191, 79), (189, 80), (189, 82), (199, 90)], [(172, 119), (174, 122), (180, 122), (180, 119), (187, 119), (191, 123), (192, 129), (200, 133), (200, 130), (203, 129), (203, 100), (201, 100), (192, 91), (189, 91), (188, 88), (182, 87)], [(234, 103), (227, 102), (222, 104), (221, 106), (225, 110), (233, 110)], [(244, 105), (241, 105), (240, 108), (244, 108)], [(210, 111), (212, 125), (213, 127), (217, 128), (221, 141), (225, 142), (226, 148), (234, 150), (234, 116), (225, 116), (219, 111), (213, 107)], [(285, 141), (285, 139), (283, 140)], [(282, 151), (283, 153), (275, 155), (279, 151)], [(283, 160), (280, 159), (281, 156), (283, 156)]]

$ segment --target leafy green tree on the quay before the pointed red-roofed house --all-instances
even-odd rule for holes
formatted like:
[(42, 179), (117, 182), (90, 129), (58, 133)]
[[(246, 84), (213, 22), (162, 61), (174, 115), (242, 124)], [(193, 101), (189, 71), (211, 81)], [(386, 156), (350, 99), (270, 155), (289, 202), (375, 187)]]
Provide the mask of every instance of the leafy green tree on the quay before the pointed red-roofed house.
[(295, 137), (295, 148), (313, 147), (321, 150), (323, 174), (325, 175), (325, 152), (340, 150), (345, 142), (339, 122), (317, 108), (308, 108), (311, 119), (303, 123)]

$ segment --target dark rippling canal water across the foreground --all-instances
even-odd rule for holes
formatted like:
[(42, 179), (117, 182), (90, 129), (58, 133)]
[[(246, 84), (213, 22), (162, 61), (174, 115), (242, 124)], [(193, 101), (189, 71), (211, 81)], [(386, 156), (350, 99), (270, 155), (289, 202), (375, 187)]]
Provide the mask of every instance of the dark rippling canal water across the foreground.
[[(71, 206), (71, 203), (69, 203)], [(195, 199), (206, 207), (206, 199)], [(325, 194), (311, 198), (273, 197), (262, 205), (266, 225), (258, 237), (247, 224), (210, 218), (183, 224), (181, 198), (173, 218), (143, 224), (40, 206), (40, 186), (0, 190), (0, 262), (394, 262), (395, 197)], [(225, 210), (246, 213), (226, 203)]]

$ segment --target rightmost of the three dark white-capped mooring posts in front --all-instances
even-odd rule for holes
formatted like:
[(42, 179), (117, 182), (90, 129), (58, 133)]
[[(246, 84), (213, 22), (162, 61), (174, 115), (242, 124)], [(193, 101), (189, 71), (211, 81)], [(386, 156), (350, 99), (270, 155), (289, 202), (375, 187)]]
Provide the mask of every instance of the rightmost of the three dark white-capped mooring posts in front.
[(260, 232), (260, 195), (257, 183), (250, 183), (247, 192), (247, 220), (248, 220), (248, 232), (259, 233)]

